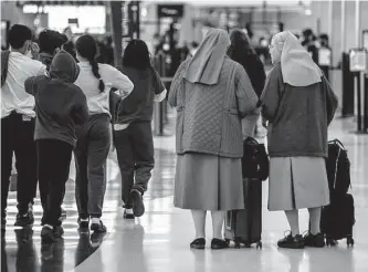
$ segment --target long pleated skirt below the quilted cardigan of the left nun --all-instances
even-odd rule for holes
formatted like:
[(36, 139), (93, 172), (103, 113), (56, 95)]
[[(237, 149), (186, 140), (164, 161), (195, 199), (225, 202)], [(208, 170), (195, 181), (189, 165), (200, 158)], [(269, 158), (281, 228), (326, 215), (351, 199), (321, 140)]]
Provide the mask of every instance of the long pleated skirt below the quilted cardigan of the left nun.
[(190, 210), (244, 209), (241, 159), (178, 155), (174, 205)]

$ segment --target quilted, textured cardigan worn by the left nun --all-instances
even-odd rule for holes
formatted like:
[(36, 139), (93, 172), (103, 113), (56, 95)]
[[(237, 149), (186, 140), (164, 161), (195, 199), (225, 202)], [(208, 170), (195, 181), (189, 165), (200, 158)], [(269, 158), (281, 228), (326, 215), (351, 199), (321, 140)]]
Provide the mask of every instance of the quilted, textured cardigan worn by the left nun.
[(218, 84), (204, 85), (183, 79), (188, 62), (179, 66), (169, 92), (169, 103), (177, 108), (177, 154), (241, 158), (241, 119), (254, 114), (259, 102), (245, 70), (225, 57)]

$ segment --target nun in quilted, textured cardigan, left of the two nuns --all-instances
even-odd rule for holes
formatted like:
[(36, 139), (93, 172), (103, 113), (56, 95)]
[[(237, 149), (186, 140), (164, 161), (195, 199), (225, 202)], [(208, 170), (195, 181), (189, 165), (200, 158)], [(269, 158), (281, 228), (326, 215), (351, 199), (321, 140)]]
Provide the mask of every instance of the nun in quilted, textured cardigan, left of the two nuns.
[(227, 56), (229, 45), (225, 31), (210, 29), (196, 54), (179, 66), (169, 93), (169, 103), (177, 108), (174, 201), (191, 210), (194, 249), (204, 249), (208, 210), (211, 248), (223, 249), (225, 211), (244, 209), (241, 118), (255, 109), (259, 100), (245, 70)]

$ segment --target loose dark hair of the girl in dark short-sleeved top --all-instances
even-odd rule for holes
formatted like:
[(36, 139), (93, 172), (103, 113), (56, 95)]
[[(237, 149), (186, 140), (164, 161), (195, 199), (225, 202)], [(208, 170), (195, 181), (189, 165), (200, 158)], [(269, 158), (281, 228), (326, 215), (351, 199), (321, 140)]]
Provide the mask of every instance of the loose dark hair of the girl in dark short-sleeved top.
[(147, 44), (141, 40), (132, 40), (123, 55), (123, 66), (146, 70), (151, 66)]

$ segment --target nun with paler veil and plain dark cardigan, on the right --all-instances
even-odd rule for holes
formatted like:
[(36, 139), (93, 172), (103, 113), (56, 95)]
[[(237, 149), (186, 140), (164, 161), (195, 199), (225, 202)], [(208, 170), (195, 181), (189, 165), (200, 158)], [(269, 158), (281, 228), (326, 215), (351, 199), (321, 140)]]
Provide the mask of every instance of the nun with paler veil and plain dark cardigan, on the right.
[[(337, 98), (308, 52), (288, 31), (273, 36), (270, 54), (274, 69), (264, 92), (262, 114), (270, 122), (269, 210), (284, 210), (291, 233), (281, 248), (324, 247), (320, 207), (329, 203), (325, 157), (327, 126)], [(298, 209), (309, 211), (311, 228), (299, 234)]]

